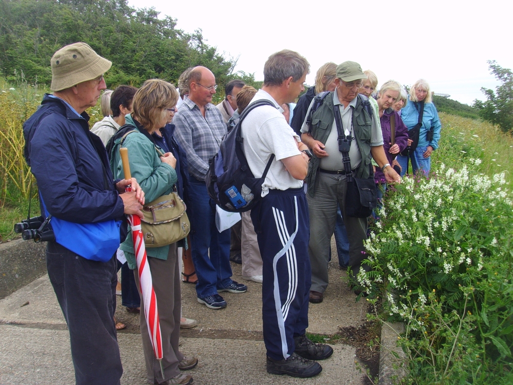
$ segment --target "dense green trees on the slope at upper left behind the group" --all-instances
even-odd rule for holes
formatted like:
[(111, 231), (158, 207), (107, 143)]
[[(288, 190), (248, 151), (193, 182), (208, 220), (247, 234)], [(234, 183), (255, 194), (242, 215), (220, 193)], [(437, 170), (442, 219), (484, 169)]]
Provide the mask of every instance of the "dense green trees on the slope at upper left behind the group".
[(209, 68), (221, 86), (233, 78), (257, 83), (252, 74), (233, 74), (236, 59), (206, 44), (201, 30), (185, 33), (174, 18), (158, 15), (126, 0), (0, 0), (0, 72), (8, 81), (23, 71), (30, 82), (50, 84), (53, 53), (85, 42), (112, 62), (105, 75), (109, 88), (152, 78), (176, 82), (198, 65)]

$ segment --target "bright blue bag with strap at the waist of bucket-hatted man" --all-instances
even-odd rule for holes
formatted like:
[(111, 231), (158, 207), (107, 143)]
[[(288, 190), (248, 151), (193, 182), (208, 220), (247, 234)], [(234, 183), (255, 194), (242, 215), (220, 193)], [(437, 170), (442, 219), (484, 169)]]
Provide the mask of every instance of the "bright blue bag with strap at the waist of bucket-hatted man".
[[(43, 197), (40, 194), (45, 215), (48, 217)], [(50, 221), (55, 241), (91, 261), (110, 261), (120, 247), (120, 226), (122, 221), (74, 223), (52, 216)]]

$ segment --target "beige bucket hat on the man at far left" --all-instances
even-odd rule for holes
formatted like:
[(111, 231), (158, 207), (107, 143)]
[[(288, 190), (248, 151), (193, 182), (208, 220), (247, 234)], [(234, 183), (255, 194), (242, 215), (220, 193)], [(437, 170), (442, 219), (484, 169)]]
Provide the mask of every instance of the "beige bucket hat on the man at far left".
[(52, 91), (61, 91), (107, 72), (112, 62), (98, 55), (86, 43), (63, 47), (52, 56)]

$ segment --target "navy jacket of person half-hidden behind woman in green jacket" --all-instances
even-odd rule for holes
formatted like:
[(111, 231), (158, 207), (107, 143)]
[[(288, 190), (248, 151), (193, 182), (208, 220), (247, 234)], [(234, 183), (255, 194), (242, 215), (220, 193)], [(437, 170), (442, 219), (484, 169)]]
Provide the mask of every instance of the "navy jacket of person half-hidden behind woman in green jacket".
[(184, 192), (189, 186), (187, 154), (185, 153), (185, 150), (182, 148), (182, 146), (180, 146), (180, 144), (178, 144), (174, 138), (173, 133), (175, 128), (176, 126), (174, 124), (168, 123), (165, 127), (160, 129), (162, 137), (157, 135), (155, 132), (151, 134), (151, 137), (157, 146), (161, 147), (166, 152), (171, 152), (176, 158), (176, 166), (174, 168), (176, 171), (176, 176), (178, 177), (178, 181), (176, 182), (176, 190), (178, 191), (180, 198), (184, 199)]

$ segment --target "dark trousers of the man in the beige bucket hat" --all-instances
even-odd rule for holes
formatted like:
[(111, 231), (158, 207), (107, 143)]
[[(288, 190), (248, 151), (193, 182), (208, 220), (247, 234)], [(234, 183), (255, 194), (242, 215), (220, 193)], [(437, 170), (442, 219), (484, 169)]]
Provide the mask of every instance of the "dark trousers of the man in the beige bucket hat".
[(123, 368), (114, 325), (115, 254), (105, 263), (91, 261), (48, 242), (46, 265), (68, 324), (76, 384), (119, 385)]

